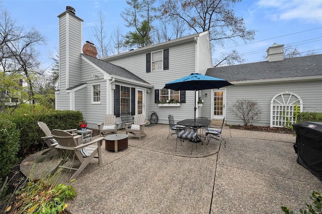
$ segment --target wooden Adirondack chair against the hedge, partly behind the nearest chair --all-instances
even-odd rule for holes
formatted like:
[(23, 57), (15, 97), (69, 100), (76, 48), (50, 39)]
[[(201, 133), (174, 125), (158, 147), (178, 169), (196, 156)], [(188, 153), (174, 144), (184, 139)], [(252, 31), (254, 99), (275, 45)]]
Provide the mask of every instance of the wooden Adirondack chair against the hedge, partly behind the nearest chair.
[[(54, 156), (55, 154), (57, 154), (57, 150), (54, 147), (57, 145), (57, 141), (51, 136), (51, 132), (50, 132), (48, 126), (44, 122), (39, 121), (38, 126), (41, 129), (41, 131), (45, 134), (45, 137), (42, 137), (41, 139), (44, 140), (44, 142), (46, 143), (46, 145), (49, 148), (48, 151), (41, 154), (42, 157), (37, 159), (37, 162), (39, 163), (39, 162), (44, 161), (46, 158), (50, 158), (50, 157)], [(70, 132), (72, 135), (76, 135), (76, 133), (75, 133), (76, 130), (77, 129), (69, 129), (69, 130), (65, 130), (65, 131)]]

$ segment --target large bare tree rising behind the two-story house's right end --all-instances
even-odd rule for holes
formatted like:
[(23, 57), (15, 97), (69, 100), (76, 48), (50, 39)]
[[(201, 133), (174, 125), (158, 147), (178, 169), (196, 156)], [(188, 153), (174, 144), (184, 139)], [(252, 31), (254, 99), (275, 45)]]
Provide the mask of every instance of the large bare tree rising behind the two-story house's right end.
[[(196, 33), (209, 31), (212, 51), (215, 51), (217, 45), (224, 46), (227, 41), (236, 43), (237, 39), (245, 42), (254, 39), (255, 31), (247, 30), (244, 19), (234, 15), (233, 6), (239, 2), (241, 0), (165, 0), (160, 8), (163, 15), (181, 19)], [(231, 53), (226, 53), (225, 60), (216, 61), (233, 64), (236, 55), (233, 58), (229, 55)]]

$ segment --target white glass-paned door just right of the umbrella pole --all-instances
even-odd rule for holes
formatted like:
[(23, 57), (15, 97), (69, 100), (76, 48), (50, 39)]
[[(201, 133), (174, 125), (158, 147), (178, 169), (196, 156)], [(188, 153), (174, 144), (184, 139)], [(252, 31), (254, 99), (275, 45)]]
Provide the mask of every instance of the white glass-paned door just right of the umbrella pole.
[(211, 119), (222, 120), (226, 117), (226, 89), (213, 89), (211, 103)]

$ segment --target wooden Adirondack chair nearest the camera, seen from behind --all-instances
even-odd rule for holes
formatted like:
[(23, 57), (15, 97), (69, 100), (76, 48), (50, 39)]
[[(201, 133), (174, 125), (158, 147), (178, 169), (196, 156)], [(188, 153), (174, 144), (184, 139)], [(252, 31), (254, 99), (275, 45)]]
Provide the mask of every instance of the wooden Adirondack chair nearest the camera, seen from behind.
[[(51, 173), (55, 173), (59, 167), (75, 170), (76, 172), (70, 177), (71, 180), (76, 178), (94, 157), (97, 156), (99, 159), (99, 164), (102, 163), (101, 146), (104, 137), (99, 137), (89, 143), (80, 144), (77, 146), (77, 142), (68, 132), (55, 129), (51, 132), (51, 134), (58, 143), (55, 148), (61, 155), (61, 160), (59, 161), (58, 166), (52, 170)], [(80, 162), (81, 165), (79, 165), (78, 168), (63, 166), (68, 160), (71, 162)]]

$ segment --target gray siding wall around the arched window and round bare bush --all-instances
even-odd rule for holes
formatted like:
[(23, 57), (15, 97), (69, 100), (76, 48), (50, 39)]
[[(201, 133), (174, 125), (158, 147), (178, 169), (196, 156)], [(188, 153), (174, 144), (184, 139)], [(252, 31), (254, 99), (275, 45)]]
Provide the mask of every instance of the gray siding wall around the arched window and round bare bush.
[(235, 85), (227, 88), (226, 93), (226, 124), (244, 125), (230, 112), (237, 99), (252, 99), (261, 107), (260, 121), (255, 126), (270, 126), (271, 100), (278, 93), (292, 92), (301, 97), (303, 112), (322, 112), (322, 82), (283, 82), (271, 84)]

